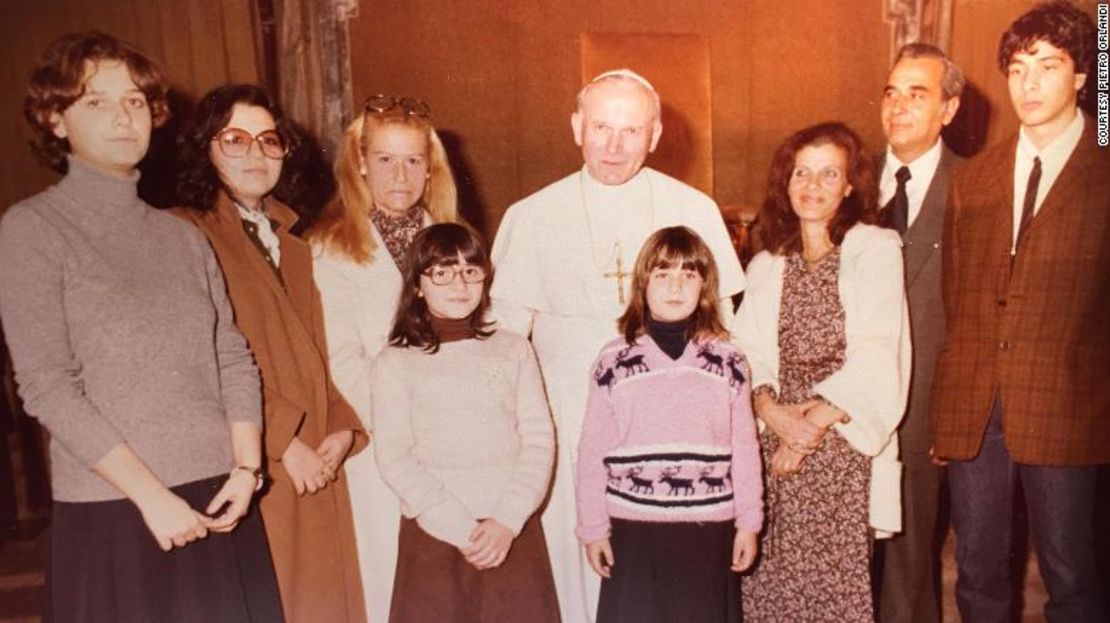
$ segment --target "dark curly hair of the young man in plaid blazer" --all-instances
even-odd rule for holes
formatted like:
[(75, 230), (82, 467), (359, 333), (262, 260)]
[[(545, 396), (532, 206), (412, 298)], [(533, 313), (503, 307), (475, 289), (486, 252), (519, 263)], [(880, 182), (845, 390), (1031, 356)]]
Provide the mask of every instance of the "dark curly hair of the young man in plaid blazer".
[[(1072, 3), (1057, 0), (1037, 4), (1015, 20), (998, 42), (998, 69), (1007, 73), (1013, 54), (1031, 50), (1038, 41), (1068, 52), (1076, 73), (1090, 76), (1094, 70), (1094, 22)], [(1087, 86), (1090, 83), (1088, 80)]]

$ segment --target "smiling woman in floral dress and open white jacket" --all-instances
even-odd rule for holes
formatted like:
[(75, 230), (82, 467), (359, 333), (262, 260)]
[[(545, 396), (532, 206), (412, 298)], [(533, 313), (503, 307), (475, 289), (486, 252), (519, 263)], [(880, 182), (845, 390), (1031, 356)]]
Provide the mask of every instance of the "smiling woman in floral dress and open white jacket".
[(767, 521), (745, 621), (874, 621), (876, 536), (901, 526), (896, 429), (910, 344), (901, 241), (842, 123), (779, 145), (733, 324), (761, 423)]

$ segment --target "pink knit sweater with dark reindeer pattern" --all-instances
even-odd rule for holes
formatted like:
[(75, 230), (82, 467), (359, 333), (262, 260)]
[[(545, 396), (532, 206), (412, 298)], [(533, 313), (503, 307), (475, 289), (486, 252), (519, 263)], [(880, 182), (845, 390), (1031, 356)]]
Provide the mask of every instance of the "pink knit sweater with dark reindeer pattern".
[(649, 336), (609, 342), (594, 363), (578, 442), (576, 534), (609, 518), (735, 520), (763, 526), (763, 473), (748, 364), (725, 341), (689, 342), (677, 360)]

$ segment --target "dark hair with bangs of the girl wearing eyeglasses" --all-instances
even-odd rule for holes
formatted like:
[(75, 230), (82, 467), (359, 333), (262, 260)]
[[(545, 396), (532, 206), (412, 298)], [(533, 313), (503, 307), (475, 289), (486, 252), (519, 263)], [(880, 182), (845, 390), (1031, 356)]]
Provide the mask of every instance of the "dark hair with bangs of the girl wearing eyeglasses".
[(390, 344), (415, 346), (434, 353), (440, 350), (440, 335), (432, 326), (432, 312), (427, 301), (420, 295), (420, 277), (436, 265), (455, 265), (462, 255), (466, 263), (482, 267), (486, 279), (482, 283), (482, 300), (471, 313), (471, 328), (478, 339), (493, 335), (492, 323), (486, 320), (490, 309), (490, 283), (493, 281), (493, 264), (478, 233), (463, 223), (435, 223), (422, 229), (413, 238), (405, 253), (407, 259), (401, 300), (390, 331)]

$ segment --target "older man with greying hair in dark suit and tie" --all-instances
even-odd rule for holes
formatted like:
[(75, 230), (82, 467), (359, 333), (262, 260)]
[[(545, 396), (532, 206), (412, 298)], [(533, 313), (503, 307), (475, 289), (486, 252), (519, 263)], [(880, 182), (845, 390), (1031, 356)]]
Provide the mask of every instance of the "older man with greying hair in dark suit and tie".
[(948, 181), (962, 161), (940, 132), (960, 107), (963, 72), (927, 43), (899, 50), (882, 90), (881, 217), (902, 235), (906, 294), (914, 339), (909, 404), (898, 430), (902, 472), (902, 532), (882, 545), (879, 621), (940, 620), (937, 586), (937, 506), (940, 470), (929, 449), (929, 392), (945, 339), (940, 241)]

